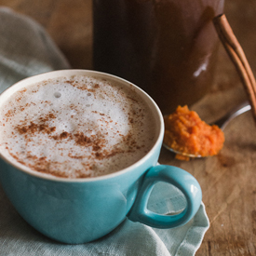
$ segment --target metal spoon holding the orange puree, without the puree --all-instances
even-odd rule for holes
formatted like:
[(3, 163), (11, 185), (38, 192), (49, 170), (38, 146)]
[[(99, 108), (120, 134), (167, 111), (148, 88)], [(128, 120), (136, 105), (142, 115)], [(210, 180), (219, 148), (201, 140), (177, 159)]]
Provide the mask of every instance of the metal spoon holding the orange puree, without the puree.
[[(220, 119), (213, 122), (212, 125), (216, 125), (223, 130), (228, 125), (228, 123), (231, 120), (233, 120), (237, 115), (241, 115), (241, 114), (249, 111), (250, 109), (251, 109), (251, 106), (249, 104), (249, 101), (245, 101), (245, 102), (239, 104), (235, 109), (231, 110), (226, 115), (223, 115)], [(182, 153), (182, 152), (176, 151), (176, 150), (168, 147), (168, 145), (165, 143), (163, 143), (163, 146), (165, 148), (167, 148), (169, 151), (171, 151), (175, 154), (178, 154), (178, 155), (185, 155), (185, 156), (194, 157), (194, 158), (202, 157), (201, 155), (193, 155), (193, 154), (187, 154), (187, 153)]]

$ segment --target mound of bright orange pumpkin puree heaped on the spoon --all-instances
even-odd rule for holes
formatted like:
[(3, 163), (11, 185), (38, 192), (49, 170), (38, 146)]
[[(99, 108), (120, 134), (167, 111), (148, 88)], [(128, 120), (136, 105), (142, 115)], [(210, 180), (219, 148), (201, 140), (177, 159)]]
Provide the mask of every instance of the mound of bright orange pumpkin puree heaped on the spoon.
[[(222, 149), (224, 134), (221, 128), (209, 126), (185, 105), (165, 117), (165, 144), (183, 154), (217, 155)], [(180, 160), (189, 160), (184, 155), (176, 155)]]

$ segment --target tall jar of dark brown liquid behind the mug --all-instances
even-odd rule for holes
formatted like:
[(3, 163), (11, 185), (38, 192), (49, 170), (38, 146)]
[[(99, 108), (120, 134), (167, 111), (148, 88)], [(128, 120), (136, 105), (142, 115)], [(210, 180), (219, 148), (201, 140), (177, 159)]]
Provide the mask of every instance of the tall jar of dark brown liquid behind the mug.
[(94, 0), (94, 69), (149, 93), (162, 113), (204, 96), (219, 45), (212, 18), (224, 0)]

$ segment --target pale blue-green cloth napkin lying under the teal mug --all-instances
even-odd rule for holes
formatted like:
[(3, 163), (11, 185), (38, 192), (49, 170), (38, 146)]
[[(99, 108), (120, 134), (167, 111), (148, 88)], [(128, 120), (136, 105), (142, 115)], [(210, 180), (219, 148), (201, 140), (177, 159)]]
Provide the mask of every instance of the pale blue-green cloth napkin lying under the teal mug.
[[(0, 92), (20, 79), (70, 68), (61, 51), (34, 20), (0, 8)], [(0, 170), (1, 171), (1, 170)], [(173, 214), (185, 207), (182, 193), (158, 182), (148, 208)], [(191, 256), (209, 228), (203, 203), (195, 218), (179, 228), (160, 230), (125, 220), (115, 231), (82, 245), (64, 245), (39, 234), (23, 221), (0, 185), (0, 255)]]

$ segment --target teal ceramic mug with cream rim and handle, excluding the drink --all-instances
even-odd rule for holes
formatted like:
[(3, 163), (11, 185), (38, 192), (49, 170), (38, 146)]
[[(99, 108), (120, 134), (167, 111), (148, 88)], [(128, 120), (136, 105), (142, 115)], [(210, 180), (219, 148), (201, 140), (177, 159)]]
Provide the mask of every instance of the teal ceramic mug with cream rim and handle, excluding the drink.
[[(22, 168), (0, 152), (0, 179), (7, 197), (22, 218), (36, 230), (57, 241), (85, 243), (107, 235), (127, 217), (156, 228), (171, 228), (189, 222), (199, 209), (202, 192), (195, 178), (181, 168), (157, 165), (164, 136), (164, 121), (155, 101), (141, 88), (110, 74), (64, 70), (38, 74), (7, 88), (2, 102), (18, 88), (63, 75), (93, 75), (132, 87), (151, 108), (157, 138), (152, 149), (128, 168), (96, 177), (69, 179), (46, 176)], [(177, 215), (161, 215), (147, 209), (156, 182), (178, 187), (187, 200)], [(2, 206), (4, 207), (4, 206)]]

